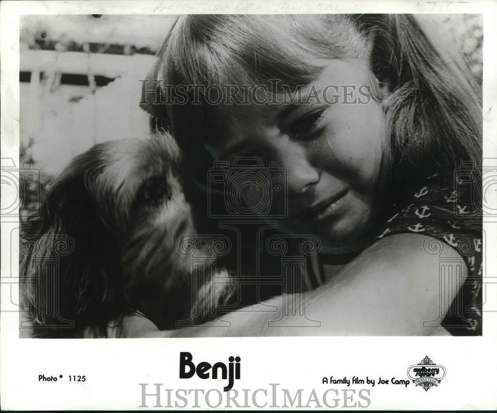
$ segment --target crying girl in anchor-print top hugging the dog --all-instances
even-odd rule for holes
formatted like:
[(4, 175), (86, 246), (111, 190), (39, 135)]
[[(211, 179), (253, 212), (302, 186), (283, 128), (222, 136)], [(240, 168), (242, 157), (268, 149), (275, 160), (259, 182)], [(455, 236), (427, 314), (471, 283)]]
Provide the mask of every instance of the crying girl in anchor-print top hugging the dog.
[[(481, 104), (437, 27), (413, 15), (179, 17), (151, 73), (167, 102), (142, 106), (196, 179), (212, 159), (286, 170), (278, 229), (319, 237), (307, 266), (319, 285), (235, 311), (230, 328), (158, 331), (129, 316), (127, 334), (482, 334)], [(256, 204), (258, 191), (241, 197)], [(319, 326), (292, 327), (300, 306)]]

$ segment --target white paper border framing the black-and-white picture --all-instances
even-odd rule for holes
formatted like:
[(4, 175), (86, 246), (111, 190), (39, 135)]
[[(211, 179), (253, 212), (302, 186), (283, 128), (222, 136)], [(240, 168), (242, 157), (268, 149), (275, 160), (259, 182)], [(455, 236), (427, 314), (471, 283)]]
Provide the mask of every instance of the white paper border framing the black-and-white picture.
[[(22, 14), (183, 13), (481, 13), (484, 15), (484, 159), (497, 165), (497, 3), (495, 1), (2, 1), (1, 157), (19, 159), (19, 16)], [(2, 197), (16, 188), (1, 187)], [(497, 205), (497, 194), (491, 201)], [(497, 219), (494, 219), (497, 221)], [(446, 368), (438, 388), (413, 385), (370, 388), (369, 409), (496, 409), (497, 222), (484, 218), (484, 256), (489, 289), (481, 337), (265, 337), (126, 340), (37, 340), (18, 337), (16, 222), (1, 222), (0, 399), (4, 410), (157, 410), (142, 407), (139, 383), (164, 388), (220, 388), (210, 381), (178, 378), (180, 351), (197, 360), (244, 364), (242, 389), (316, 389), (323, 377), (369, 376), (405, 379), (406, 369), (428, 355)], [(11, 253), (12, 251), (12, 253)], [(491, 251), (494, 251), (492, 253)], [(11, 258), (12, 257), (12, 258)], [(485, 281), (484, 281), (485, 282)], [(494, 284), (494, 286), (492, 286)], [(264, 348), (264, 351), (262, 349)], [(85, 382), (40, 382), (38, 376), (85, 375)], [(166, 393), (164, 393), (165, 395)], [(262, 397), (262, 396), (261, 396)], [(352, 402), (350, 402), (352, 403)], [(164, 401), (163, 405), (166, 405)], [(281, 405), (281, 403), (280, 403)], [(191, 405), (190, 407), (195, 407)], [(205, 407), (205, 406), (204, 406)], [(254, 406), (255, 407), (255, 406)], [(341, 406), (343, 407), (343, 406)], [(221, 406), (219, 409), (223, 409)], [(264, 409), (273, 409), (271, 401)], [(276, 408), (274, 408), (276, 409)]]

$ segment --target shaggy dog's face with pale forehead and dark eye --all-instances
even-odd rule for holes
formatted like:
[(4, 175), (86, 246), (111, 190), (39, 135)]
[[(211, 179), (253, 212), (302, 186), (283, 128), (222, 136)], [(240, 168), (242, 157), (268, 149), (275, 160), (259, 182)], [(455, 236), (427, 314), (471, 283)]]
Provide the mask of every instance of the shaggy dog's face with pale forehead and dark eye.
[(159, 135), (113, 141), (98, 152), (100, 165), (87, 174), (86, 185), (117, 235), (126, 286), (154, 282), (169, 289), (191, 267), (177, 242), (196, 234), (176, 144)]

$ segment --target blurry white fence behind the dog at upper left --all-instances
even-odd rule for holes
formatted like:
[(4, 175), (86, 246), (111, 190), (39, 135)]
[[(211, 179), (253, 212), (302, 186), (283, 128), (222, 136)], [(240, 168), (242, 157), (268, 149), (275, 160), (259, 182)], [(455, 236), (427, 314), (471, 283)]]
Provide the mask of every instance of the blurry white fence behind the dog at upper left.
[[(94, 143), (146, 136), (139, 80), (154, 62), (151, 55), (21, 50), (20, 71), (31, 77), (20, 84), (20, 139), (34, 140), (37, 166), (54, 174)], [(61, 74), (87, 75), (90, 86), (61, 85)], [(115, 80), (95, 89), (94, 76)]]

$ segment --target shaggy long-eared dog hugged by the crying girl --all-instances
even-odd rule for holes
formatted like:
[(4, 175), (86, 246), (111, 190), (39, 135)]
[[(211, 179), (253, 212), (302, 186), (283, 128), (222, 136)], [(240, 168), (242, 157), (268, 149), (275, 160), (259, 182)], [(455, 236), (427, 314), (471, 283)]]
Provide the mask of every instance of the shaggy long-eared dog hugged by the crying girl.
[[(54, 180), (40, 219), (21, 237), (30, 334), (105, 337), (136, 311), (171, 329), (204, 321), (191, 318), (193, 308), (212, 313), (205, 307), (225, 302), (229, 283), (207, 282), (192, 299), (191, 258), (176, 250), (181, 236), (196, 234), (182, 171), (178, 147), (162, 134), (97, 144)], [(47, 287), (51, 295), (40, 295)]]

